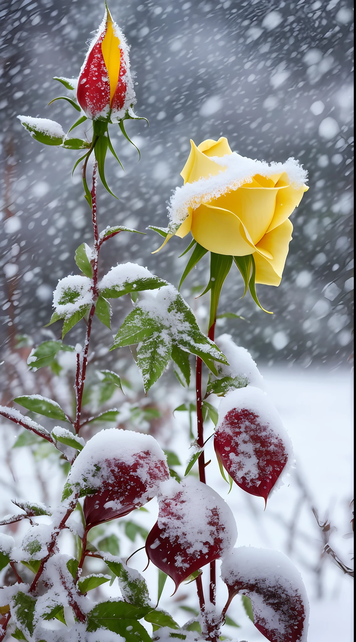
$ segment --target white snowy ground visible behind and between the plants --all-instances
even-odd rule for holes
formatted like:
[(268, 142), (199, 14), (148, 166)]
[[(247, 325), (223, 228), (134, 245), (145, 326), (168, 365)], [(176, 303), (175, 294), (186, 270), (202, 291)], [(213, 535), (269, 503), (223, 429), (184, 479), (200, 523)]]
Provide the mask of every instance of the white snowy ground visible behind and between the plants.
[[(207, 467), (207, 482), (227, 499), (233, 510), (239, 531), (237, 545), (251, 544), (283, 550), (300, 569), (310, 599), (308, 641), (351, 642), (353, 580), (344, 576), (341, 569), (332, 564), (330, 557), (323, 560), (320, 572), (315, 572), (322, 537), (311, 505), (317, 508), (321, 517), (329, 510), (329, 519), (332, 525), (337, 526), (337, 531), (330, 538), (330, 545), (345, 564), (352, 566), (350, 551), (353, 541), (343, 537), (350, 533), (352, 517), (349, 508), (352, 499), (352, 377), (346, 369), (326, 372), (272, 367), (261, 370), (267, 390), (292, 438), (298, 474), (305, 484), (309, 499), (301, 499), (296, 473), (292, 473), (285, 480), (285, 485), (269, 498), (266, 511), (262, 499), (248, 496), (235, 485), (228, 495), (228, 485), (219, 474), (211, 446), (207, 451), (207, 460), (212, 456), (212, 464)], [(189, 456), (185, 413), (176, 413), (173, 425), (169, 449), (176, 451), (185, 463)], [(19, 449), (14, 469), (17, 489), (22, 489), (24, 495), (27, 494), (32, 474), (31, 466), (26, 464), (25, 453), (24, 449)], [(184, 468), (182, 466), (177, 470), (183, 474)], [(36, 487), (33, 487), (33, 492), (37, 494)], [(10, 487), (4, 487), (3, 499), (5, 496), (12, 496)], [(40, 498), (31, 496), (31, 499)], [(6, 500), (4, 504), (9, 510)], [(136, 512), (135, 521), (149, 529), (157, 518), (157, 502), (153, 500), (147, 507), (149, 514)], [(115, 525), (113, 528), (118, 527)], [(116, 532), (122, 534), (121, 529)], [(130, 555), (142, 543), (140, 537), (134, 543), (123, 538), (122, 557)], [(69, 541), (68, 546), (68, 552), (71, 552)], [(146, 566), (144, 552), (137, 553), (130, 564), (142, 571)], [(157, 595), (157, 569), (150, 565), (144, 576), (154, 599)], [(101, 596), (108, 595), (109, 591), (112, 594), (114, 587), (115, 584), (111, 589), (105, 585)], [(194, 584), (181, 585), (174, 597), (170, 598), (173, 590), (173, 582), (168, 579), (160, 607), (167, 609), (183, 624), (191, 615), (181, 607), (198, 607)], [(115, 591), (119, 594), (118, 589)], [(218, 596), (218, 605), (222, 606), (226, 601), (226, 588), (222, 582), (218, 586)], [(265, 639), (248, 620), (238, 597), (233, 600), (228, 615), (241, 627), (226, 626), (224, 633), (229, 637), (248, 642), (262, 642)]]

